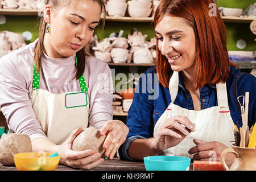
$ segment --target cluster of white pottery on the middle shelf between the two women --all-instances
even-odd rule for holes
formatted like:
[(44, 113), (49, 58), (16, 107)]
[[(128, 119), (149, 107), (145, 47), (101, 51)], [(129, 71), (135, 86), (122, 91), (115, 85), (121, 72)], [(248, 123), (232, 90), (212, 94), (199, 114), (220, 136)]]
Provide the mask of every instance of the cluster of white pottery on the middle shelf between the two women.
[(123, 31), (118, 37), (96, 39), (96, 46), (92, 47), (94, 56), (106, 63), (134, 63), (134, 64), (154, 64), (156, 58), (156, 38), (146, 41), (147, 35), (143, 35), (136, 28), (133, 34), (127, 35), (127, 39), (122, 37)]

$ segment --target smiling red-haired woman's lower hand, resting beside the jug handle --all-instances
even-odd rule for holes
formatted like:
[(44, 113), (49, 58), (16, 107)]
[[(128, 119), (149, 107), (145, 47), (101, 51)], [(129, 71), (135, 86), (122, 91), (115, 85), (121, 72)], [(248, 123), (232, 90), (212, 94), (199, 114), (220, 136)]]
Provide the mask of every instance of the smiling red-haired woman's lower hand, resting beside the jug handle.
[[(194, 139), (195, 147), (189, 149), (189, 154), (195, 154), (193, 160), (209, 160), (220, 161), (221, 153), (228, 148), (225, 144), (220, 142), (205, 142), (203, 140)], [(236, 156), (234, 154), (226, 155), (226, 163), (228, 166), (233, 163)]]

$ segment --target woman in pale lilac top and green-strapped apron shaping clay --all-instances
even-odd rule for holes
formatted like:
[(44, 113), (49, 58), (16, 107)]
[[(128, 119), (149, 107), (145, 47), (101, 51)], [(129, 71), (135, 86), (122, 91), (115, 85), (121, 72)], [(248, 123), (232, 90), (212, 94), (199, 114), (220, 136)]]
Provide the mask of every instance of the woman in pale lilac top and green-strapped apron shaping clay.
[(129, 131), (112, 120), (110, 68), (85, 53), (102, 13), (101, 0), (48, 0), (39, 38), (0, 60), (0, 107), (9, 131), (27, 134), (32, 151), (58, 152), (60, 163), (73, 168), (104, 161), (93, 150), (72, 150), (82, 129), (106, 135), (110, 159)]

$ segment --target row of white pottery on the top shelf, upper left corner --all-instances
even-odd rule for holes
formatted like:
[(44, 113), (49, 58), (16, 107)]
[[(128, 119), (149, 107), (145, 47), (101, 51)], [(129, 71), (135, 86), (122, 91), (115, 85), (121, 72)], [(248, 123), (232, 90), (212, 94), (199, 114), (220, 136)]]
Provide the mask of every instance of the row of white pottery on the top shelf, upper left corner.
[(2, 9), (40, 10), (46, 0), (0, 0)]

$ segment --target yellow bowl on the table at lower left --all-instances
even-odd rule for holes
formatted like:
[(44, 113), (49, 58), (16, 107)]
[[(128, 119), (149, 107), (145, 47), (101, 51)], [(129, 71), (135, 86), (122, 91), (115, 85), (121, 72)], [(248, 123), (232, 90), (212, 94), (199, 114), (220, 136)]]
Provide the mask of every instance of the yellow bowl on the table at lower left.
[(60, 155), (47, 158), (51, 152), (27, 152), (14, 155), (18, 171), (55, 171), (60, 162)]

